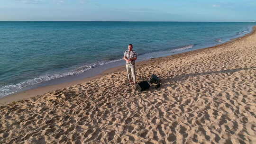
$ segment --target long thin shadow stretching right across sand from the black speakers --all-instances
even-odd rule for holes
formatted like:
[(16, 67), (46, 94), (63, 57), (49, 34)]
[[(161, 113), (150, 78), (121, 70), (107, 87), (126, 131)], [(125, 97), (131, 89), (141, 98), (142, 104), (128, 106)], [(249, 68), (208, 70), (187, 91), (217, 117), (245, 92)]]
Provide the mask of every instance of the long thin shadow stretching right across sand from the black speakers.
[(219, 73), (229, 73), (231, 75), (234, 72), (238, 72), (238, 71), (242, 71), (242, 70), (249, 70), (249, 69), (256, 69), (256, 67), (221, 70), (221, 71), (211, 71), (211, 72), (201, 72), (201, 73), (189, 73), (189, 74), (182, 74), (182, 75), (176, 75), (176, 76), (167, 76), (168, 78), (161, 79), (162, 86), (160, 88), (166, 88), (170, 85), (174, 85), (174, 83), (166, 85), (166, 82), (185, 81), (189, 77), (196, 77), (196, 76), (200, 76), (200, 75), (219, 74)]

